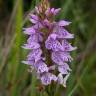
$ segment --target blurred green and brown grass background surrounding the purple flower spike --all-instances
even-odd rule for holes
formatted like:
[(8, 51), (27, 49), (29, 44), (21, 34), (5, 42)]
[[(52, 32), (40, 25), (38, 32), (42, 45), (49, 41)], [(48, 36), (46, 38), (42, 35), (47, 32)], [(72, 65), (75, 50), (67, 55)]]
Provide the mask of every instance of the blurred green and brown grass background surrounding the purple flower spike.
[[(36, 89), (36, 78), (21, 63), (26, 50), (22, 27), (39, 0), (0, 0), (0, 96), (48, 96)], [(96, 0), (50, 0), (61, 7), (58, 19), (72, 22), (75, 34), (71, 76), (67, 88), (59, 87), (52, 96), (96, 96)], [(59, 94), (61, 93), (61, 95)]]

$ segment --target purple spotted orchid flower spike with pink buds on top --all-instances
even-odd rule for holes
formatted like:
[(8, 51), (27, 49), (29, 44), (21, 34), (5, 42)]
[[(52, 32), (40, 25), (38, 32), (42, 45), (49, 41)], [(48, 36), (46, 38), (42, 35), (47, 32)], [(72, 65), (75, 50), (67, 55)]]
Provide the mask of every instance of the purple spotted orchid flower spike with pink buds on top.
[(59, 13), (60, 8), (47, 8), (42, 11), (39, 7), (35, 8), (35, 13), (30, 14), (32, 26), (23, 28), (27, 34), (27, 44), (22, 47), (29, 49), (30, 52), (25, 64), (30, 65), (37, 74), (43, 85), (51, 82), (58, 82), (66, 87), (66, 80), (70, 75), (71, 69), (68, 63), (72, 61), (70, 51), (76, 49), (68, 42), (74, 38), (65, 26), (70, 22), (60, 20), (54, 21), (54, 17)]

